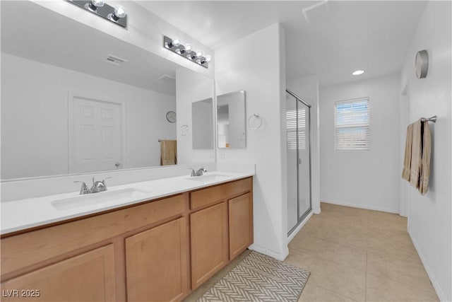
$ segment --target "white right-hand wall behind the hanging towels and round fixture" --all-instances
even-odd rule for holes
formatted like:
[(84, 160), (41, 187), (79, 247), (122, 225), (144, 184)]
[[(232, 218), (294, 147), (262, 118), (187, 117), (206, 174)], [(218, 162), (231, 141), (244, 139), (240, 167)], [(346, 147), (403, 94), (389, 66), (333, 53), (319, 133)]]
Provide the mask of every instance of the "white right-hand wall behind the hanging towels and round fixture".
[[(451, 1), (429, 1), (405, 57), (409, 120), (437, 115), (432, 130), (429, 191), (408, 188), (408, 232), (441, 301), (452, 301)], [(415, 55), (429, 54), (427, 78), (415, 76)]]

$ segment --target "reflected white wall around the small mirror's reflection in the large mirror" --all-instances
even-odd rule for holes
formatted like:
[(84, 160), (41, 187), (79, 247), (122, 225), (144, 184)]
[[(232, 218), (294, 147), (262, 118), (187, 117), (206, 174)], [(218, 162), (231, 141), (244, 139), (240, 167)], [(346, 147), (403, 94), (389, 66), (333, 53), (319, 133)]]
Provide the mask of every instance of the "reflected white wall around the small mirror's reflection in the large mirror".
[[(207, 98), (213, 98), (214, 95), (213, 79), (209, 79), (201, 74), (189, 69), (178, 69), (176, 71), (176, 97), (177, 97), (177, 150), (178, 163), (190, 164), (202, 162), (215, 162), (215, 151), (212, 149), (193, 149), (193, 122), (191, 115), (191, 103), (198, 100), (206, 100)], [(216, 106), (213, 106), (216, 108)], [(206, 135), (210, 135), (213, 138), (213, 129), (215, 120), (214, 112), (211, 112), (211, 131)], [(186, 135), (181, 131), (183, 125), (188, 125)], [(183, 152), (182, 152), (183, 151)], [(193, 168), (200, 168), (194, 166)]]

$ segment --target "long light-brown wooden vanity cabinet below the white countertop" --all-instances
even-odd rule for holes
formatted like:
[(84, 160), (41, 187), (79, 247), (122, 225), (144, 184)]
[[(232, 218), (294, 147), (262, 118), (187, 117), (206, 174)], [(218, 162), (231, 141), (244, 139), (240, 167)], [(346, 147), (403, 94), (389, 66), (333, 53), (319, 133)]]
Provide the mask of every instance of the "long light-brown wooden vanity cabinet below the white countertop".
[(2, 301), (180, 301), (253, 243), (252, 183), (196, 182), (4, 233)]

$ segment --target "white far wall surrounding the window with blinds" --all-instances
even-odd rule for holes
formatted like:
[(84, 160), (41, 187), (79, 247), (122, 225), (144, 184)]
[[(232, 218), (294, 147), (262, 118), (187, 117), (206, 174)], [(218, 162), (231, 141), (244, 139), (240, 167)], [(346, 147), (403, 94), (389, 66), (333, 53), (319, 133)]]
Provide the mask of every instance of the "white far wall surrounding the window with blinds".
[[(322, 201), (398, 213), (399, 96), (398, 74), (320, 89)], [(335, 101), (361, 97), (369, 97), (370, 151), (335, 152)]]

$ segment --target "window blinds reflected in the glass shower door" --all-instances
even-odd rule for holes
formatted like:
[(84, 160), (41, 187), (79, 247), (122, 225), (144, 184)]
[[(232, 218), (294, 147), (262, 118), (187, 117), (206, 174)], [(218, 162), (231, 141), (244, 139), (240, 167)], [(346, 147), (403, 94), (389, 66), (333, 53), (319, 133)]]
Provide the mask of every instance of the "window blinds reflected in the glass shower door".
[(297, 128), (298, 128), (298, 148), (306, 149), (306, 110), (300, 108), (298, 110), (298, 127), (297, 127), (297, 110), (291, 109), (285, 112), (286, 129), (287, 129), (287, 149), (297, 150)]

